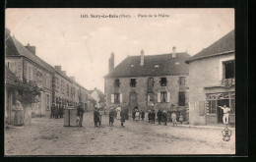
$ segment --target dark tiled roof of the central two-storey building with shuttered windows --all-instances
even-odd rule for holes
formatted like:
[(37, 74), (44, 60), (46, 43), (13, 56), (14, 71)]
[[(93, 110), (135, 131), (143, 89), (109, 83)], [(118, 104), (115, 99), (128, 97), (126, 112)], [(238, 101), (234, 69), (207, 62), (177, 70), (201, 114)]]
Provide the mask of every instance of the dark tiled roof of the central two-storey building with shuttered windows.
[[(176, 57), (172, 54), (145, 55), (141, 66), (141, 56), (128, 56), (105, 78), (188, 75), (185, 60), (189, 57), (187, 53), (176, 53)], [(175, 64), (177, 62), (179, 64)]]

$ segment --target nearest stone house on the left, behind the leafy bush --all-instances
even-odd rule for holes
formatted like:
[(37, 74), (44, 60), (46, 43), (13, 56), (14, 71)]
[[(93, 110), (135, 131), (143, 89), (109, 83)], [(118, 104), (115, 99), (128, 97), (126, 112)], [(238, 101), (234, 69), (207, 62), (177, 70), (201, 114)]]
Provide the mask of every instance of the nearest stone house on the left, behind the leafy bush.
[(37, 100), (32, 104), (32, 116), (44, 116), (49, 109), (52, 97), (53, 68), (35, 55), (35, 47), (24, 46), (10, 30), (6, 29), (5, 65), (20, 81), (30, 81), (43, 88)]

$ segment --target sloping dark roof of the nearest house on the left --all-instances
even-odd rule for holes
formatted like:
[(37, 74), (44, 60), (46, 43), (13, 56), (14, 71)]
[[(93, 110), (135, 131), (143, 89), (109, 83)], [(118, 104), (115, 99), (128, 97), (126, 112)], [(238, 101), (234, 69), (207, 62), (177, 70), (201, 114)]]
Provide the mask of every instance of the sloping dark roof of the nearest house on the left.
[(33, 55), (19, 40), (14, 36), (10, 36), (6, 40), (6, 56), (25, 56), (32, 62), (36, 63), (40, 67), (53, 73), (54, 69), (48, 63), (40, 59), (38, 56)]

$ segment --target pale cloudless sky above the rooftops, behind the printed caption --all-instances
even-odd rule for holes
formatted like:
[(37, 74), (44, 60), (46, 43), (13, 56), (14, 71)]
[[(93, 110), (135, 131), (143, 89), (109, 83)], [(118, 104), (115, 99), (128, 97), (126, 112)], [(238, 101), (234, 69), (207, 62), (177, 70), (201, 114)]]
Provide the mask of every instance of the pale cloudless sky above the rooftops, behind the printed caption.
[[(81, 18), (81, 14), (131, 18)], [(168, 18), (138, 18), (166, 14)], [(192, 56), (234, 28), (233, 9), (7, 9), (6, 27), (36, 55), (88, 89), (104, 90), (110, 53), (115, 66), (128, 55), (187, 52)]]

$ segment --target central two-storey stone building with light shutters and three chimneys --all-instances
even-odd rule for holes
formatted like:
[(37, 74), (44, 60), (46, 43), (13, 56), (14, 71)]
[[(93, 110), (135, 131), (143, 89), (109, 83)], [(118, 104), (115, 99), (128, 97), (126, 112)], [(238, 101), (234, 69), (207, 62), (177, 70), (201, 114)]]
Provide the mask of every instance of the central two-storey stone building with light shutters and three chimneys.
[(176, 53), (128, 56), (114, 68), (114, 54), (109, 59), (109, 73), (104, 77), (104, 93), (109, 107), (128, 106), (129, 110), (164, 109), (186, 112), (188, 107), (188, 65), (190, 56)]

